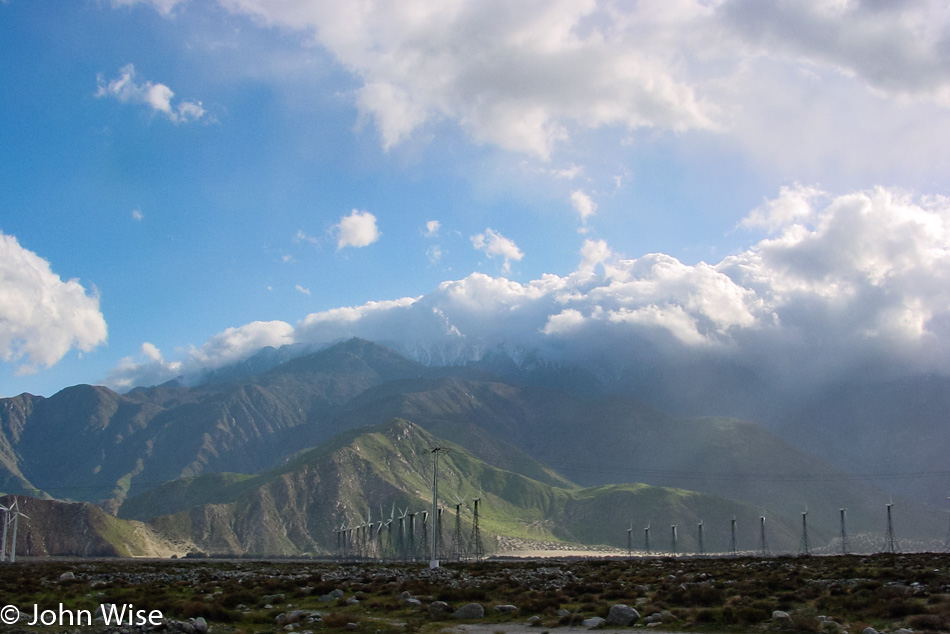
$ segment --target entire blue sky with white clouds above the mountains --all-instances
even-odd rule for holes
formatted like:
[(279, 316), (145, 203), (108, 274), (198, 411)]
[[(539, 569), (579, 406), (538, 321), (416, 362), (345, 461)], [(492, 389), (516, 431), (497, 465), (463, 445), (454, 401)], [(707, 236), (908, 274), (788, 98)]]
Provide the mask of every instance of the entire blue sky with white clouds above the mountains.
[(2, 396), (354, 335), (950, 372), (944, 2), (2, 0), (0, 86)]

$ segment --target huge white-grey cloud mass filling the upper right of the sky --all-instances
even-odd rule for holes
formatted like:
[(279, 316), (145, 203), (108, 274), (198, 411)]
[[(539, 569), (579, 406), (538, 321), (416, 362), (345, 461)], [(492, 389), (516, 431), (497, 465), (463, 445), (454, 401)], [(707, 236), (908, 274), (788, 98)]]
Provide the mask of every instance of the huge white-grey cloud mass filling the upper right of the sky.
[(722, 135), (783, 179), (929, 187), (950, 170), (942, 0), (218, 3), (325, 48), (386, 149), (449, 122), (542, 160), (590, 156), (591, 140), (635, 148), (650, 130)]

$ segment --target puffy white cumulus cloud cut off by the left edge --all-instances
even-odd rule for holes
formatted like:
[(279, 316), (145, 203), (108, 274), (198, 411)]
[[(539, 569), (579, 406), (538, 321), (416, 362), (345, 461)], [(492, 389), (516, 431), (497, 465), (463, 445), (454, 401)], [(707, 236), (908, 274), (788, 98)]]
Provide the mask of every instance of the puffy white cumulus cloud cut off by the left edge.
[(64, 282), (49, 262), (0, 233), (0, 358), (17, 371), (50, 367), (71, 349), (106, 342), (99, 297), (77, 280)]

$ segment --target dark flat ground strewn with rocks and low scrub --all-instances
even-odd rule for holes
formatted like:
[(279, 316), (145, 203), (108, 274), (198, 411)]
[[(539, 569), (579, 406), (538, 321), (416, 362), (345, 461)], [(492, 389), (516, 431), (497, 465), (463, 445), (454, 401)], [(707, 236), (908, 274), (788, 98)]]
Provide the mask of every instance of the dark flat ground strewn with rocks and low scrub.
[[(434, 570), (376, 562), (34, 560), (0, 565), (0, 603), (0, 631), (34, 633), (950, 631), (950, 555), (584, 557)], [(17, 622), (11, 606), (22, 615)], [(110, 624), (109, 606), (153, 620)], [(28, 624), (43, 611), (55, 622)], [(69, 614), (88, 614), (91, 623), (63, 622)]]

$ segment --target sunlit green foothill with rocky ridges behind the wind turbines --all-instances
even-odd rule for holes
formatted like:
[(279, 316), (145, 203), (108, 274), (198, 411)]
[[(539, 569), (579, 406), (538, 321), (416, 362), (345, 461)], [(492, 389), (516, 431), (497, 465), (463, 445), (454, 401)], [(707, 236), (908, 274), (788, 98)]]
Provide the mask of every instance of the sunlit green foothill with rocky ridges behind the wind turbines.
[[(379, 535), (380, 519), (392, 520), (395, 531), (399, 516), (430, 508), (431, 449), (436, 446), (449, 450), (439, 462), (447, 543), (455, 540), (456, 504), (462, 512), (462, 538), (471, 538), (475, 498), (480, 499), (480, 528), (489, 551), (496, 548), (499, 537), (622, 548), (631, 523), (636, 526), (638, 548), (643, 526), (656, 527), (654, 544), (661, 551), (670, 547), (664, 535), (678, 524), (679, 548), (695, 550), (700, 520), (709, 526), (707, 548), (724, 550), (728, 541), (721, 539), (722, 530), (728, 530), (733, 517), (748, 533), (745, 547), (753, 548), (757, 534), (753, 531), (764, 512), (702, 493), (642, 484), (551, 486), (488, 465), (402, 419), (344, 432), (260, 475), (202, 476), (168, 483), (129, 500), (121, 512), (131, 517), (134, 510), (134, 516), (144, 517), (143, 509), (177, 505), (177, 512), (151, 518), (151, 526), (169, 539), (193, 542), (209, 553), (333, 553), (340, 527), (370, 521)], [(766, 513), (771, 545), (793, 549), (795, 523)], [(421, 519), (417, 521), (421, 524)], [(409, 530), (407, 522), (403, 531)]]

